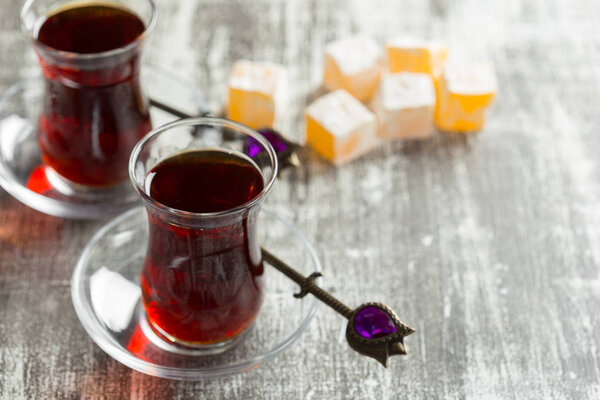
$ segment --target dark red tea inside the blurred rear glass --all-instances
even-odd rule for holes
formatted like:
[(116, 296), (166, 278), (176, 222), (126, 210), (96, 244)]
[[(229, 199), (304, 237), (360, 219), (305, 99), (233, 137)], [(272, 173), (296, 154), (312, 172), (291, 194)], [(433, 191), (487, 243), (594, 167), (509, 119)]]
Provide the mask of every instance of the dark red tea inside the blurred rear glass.
[(39, 25), (35, 39), (47, 47), (36, 46), (46, 86), (38, 140), (44, 163), (70, 181), (124, 181), (131, 150), (152, 128), (139, 46), (123, 49), (144, 30), (138, 16), (104, 3), (60, 8)]

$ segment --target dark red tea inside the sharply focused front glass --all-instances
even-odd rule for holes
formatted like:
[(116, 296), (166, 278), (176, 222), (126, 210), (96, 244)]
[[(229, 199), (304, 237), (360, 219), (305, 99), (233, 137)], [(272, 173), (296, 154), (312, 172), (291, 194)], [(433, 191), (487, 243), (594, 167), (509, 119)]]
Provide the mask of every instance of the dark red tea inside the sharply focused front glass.
[[(154, 200), (194, 213), (243, 205), (264, 186), (252, 162), (219, 150), (180, 153), (159, 163), (147, 179)], [(186, 224), (149, 210), (142, 297), (148, 318), (163, 334), (210, 344), (233, 338), (252, 324), (263, 287), (257, 215), (257, 209), (249, 209), (239, 216)]]

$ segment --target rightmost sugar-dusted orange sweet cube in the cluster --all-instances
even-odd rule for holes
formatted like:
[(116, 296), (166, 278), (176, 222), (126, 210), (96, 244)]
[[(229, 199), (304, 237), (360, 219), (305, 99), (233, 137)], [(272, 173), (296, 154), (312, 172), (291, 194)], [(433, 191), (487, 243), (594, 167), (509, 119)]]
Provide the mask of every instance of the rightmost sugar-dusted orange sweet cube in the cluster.
[(485, 111), (497, 90), (491, 64), (452, 63), (438, 84), (435, 122), (444, 131), (468, 132), (483, 128)]

